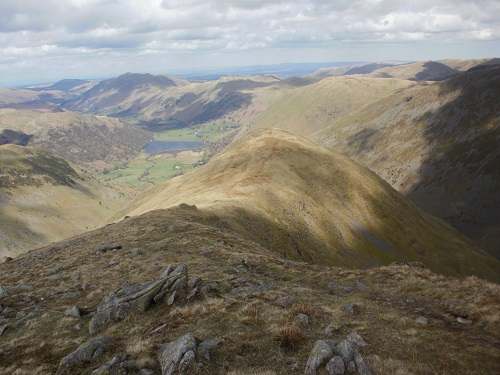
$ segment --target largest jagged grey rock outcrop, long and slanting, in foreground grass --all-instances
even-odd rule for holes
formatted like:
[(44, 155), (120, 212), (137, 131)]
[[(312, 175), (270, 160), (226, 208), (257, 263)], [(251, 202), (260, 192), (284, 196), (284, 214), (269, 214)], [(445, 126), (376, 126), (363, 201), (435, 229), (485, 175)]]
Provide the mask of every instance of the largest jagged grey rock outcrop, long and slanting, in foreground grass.
[[(199, 279), (199, 278), (198, 278)], [(108, 294), (101, 302), (89, 326), (90, 334), (109, 321), (124, 319), (130, 310), (144, 312), (155, 303), (169, 295), (168, 304), (183, 299), (186, 295), (194, 296), (202, 287), (201, 279), (192, 282), (189, 289), (188, 269), (181, 264), (174, 271), (169, 266), (162, 277), (147, 283), (124, 286)]]

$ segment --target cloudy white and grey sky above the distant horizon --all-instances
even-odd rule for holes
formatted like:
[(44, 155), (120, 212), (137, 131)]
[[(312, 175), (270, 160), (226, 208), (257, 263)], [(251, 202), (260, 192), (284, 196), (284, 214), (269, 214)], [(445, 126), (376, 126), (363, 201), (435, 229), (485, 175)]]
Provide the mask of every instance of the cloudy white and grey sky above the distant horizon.
[(498, 0), (0, 0), (0, 86), (179, 68), (499, 57), (499, 15)]

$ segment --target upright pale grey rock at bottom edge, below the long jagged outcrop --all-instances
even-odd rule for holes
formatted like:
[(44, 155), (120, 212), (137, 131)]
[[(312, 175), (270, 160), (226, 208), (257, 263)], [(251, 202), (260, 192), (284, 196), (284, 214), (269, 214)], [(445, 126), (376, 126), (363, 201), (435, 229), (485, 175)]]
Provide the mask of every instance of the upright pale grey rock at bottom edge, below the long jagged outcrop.
[(196, 339), (192, 333), (186, 333), (179, 339), (164, 345), (159, 356), (162, 375), (186, 373), (194, 360), (195, 352)]

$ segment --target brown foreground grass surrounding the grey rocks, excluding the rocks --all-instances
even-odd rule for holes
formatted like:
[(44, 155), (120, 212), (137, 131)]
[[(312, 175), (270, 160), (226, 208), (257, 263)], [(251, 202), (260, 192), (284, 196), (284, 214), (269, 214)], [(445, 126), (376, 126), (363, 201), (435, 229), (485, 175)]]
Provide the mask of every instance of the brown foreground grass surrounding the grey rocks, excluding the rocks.
[[(123, 249), (97, 255), (109, 242)], [(288, 375), (292, 365), (303, 373), (316, 340), (341, 340), (351, 331), (369, 344), (361, 353), (375, 375), (498, 373), (498, 285), (423, 269), (346, 270), (285, 261), (228, 230), (215, 215), (190, 207), (149, 212), (0, 264), (0, 285), (18, 287), (0, 300), (4, 309), (15, 315), (31, 302), (43, 308), (0, 337), (0, 373), (55, 373), (61, 358), (89, 340), (88, 324), (104, 296), (181, 262), (190, 275), (216, 282), (218, 292), (173, 307), (161, 302), (106, 325), (95, 337), (110, 336), (111, 348), (72, 374), (91, 374), (117, 353), (158, 370), (161, 345), (187, 332), (200, 341), (224, 340), (211, 351), (212, 362), (194, 373)], [(345, 293), (329, 289), (329, 282), (361, 282), (369, 290)], [(261, 291), (229, 294), (261, 284), (267, 285)], [(66, 292), (81, 295), (61, 298)], [(285, 295), (289, 306), (275, 304)], [(342, 309), (349, 303), (355, 304), (353, 315)], [(84, 312), (81, 320), (63, 315), (74, 305)], [(308, 326), (295, 321), (299, 312), (309, 316)], [(418, 316), (429, 324), (417, 324)], [(457, 317), (473, 324), (461, 325)], [(78, 322), (80, 331), (73, 328)]]

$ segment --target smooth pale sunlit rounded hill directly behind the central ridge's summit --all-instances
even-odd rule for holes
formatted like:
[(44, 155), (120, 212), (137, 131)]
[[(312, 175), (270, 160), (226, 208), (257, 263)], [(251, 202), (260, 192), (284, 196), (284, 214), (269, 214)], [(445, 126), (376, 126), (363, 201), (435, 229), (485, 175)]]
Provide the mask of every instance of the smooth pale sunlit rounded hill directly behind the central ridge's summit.
[(363, 76), (330, 77), (283, 95), (252, 123), (307, 135), (357, 108), (412, 86), (409, 81)]

